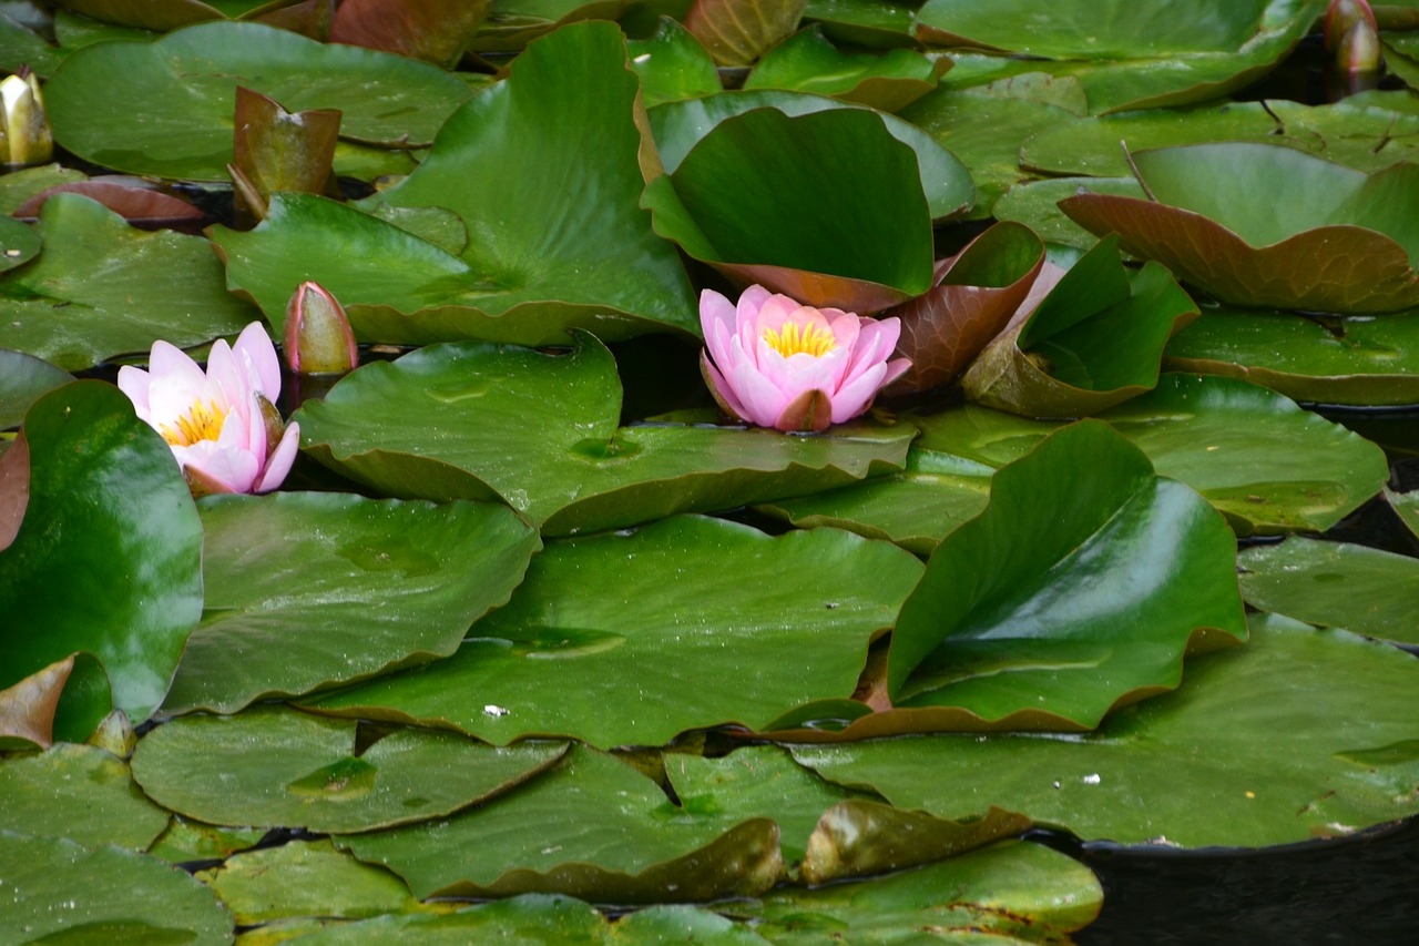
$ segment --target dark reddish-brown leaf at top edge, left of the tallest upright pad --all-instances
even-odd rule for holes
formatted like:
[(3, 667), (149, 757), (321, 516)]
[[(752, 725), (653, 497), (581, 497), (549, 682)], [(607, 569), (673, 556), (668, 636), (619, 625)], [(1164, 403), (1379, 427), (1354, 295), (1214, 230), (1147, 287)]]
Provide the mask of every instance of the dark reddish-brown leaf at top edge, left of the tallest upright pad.
[(453, 65), (487, 13), (488, 0), (345, 0), (331, 43)]

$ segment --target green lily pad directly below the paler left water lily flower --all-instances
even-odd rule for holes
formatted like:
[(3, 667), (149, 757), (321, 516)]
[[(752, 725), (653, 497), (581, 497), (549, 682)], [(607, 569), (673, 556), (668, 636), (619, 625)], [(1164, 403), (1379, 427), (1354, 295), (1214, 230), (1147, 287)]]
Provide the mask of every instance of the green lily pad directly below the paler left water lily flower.
[(200, 511), (207, 598), (170, 713), (231, 713), (448, 656), (541, 547), (509, 509), (478, 503), (275, 493)]

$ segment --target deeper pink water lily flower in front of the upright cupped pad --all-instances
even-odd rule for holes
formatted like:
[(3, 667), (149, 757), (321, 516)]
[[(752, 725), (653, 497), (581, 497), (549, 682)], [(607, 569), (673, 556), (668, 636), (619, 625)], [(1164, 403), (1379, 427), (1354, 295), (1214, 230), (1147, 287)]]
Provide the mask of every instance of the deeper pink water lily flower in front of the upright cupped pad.
[(739, 304), (700, 294), (700, 369), (725, 413), (761, 428), (822, 430), (864, 413), (911, 361), (891, 358), (895, 318), (799, 305), (762, 286)]

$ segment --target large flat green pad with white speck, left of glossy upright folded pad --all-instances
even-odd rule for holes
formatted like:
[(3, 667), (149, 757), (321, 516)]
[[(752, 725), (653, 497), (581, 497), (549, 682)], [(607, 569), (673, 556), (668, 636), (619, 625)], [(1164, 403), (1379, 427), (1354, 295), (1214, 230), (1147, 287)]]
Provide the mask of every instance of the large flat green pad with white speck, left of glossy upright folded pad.
[(562, 733), (660, 746), (688, 729), (759, 729), (850, 696), (920, 575), (887, 543), (701, 517), (551, 543), (453, 658), (311, 706), (440, 720), (498, 744)]

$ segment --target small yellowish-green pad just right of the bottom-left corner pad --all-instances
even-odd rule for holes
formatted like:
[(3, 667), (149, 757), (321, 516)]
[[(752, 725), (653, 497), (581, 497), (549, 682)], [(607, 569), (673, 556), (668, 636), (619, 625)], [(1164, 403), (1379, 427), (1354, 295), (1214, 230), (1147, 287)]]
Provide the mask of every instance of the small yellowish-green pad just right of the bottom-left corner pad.
[(237, 854), (203, 879), (240, 926), (295, 916), (365, 919), (430, 909), (397, 876), (360, 864), (329, 841), (292, 841)]

